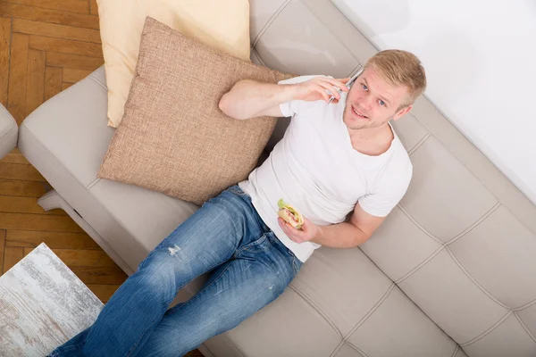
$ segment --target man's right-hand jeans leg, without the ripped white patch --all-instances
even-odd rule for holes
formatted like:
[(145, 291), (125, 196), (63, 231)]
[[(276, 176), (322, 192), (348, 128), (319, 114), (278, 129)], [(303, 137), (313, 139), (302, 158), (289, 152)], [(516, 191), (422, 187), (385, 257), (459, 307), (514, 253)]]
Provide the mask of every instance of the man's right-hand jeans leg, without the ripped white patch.
[(179, 357), (235, 328), (281, 295), (301, 262), (272, 232), (240, 247), (188, 302), (167, 311), (138, 357)]

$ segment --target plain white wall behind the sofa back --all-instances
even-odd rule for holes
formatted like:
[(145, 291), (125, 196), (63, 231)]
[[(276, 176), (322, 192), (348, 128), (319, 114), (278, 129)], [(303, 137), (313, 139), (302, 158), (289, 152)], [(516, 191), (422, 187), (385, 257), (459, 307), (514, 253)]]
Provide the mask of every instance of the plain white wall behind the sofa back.
[(536, 1), (332, 2), (379, 49), (419, 56), (426, 96), (536, 203)]

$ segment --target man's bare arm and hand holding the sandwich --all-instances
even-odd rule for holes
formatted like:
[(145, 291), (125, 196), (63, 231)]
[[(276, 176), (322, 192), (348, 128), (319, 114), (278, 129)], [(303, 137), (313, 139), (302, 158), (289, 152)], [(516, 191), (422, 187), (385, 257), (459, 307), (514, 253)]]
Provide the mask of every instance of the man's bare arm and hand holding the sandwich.
[(353, 248), (372, 237), (385, 217), (376, 217), (364, 212), (359, 203), (356, 203), (356, 208), (349, 222), (317, 226), (305, 218), (304, 225), (300, 230), (292, 228), (281, 218), (278, 220), (285, 234), (296, 243), (310, 241), (331, 248)]

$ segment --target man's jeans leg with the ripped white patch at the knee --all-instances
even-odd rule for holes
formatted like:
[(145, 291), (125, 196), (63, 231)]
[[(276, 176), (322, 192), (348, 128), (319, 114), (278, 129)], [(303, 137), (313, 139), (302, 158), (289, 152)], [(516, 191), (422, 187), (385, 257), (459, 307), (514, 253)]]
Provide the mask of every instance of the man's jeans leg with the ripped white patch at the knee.
[[(126, 356), (144, 344), (177, 291), (230, 259), (243, 237), (261, 236), (243, 196), (224, 191), (156, 246), (106, 303), (95, 324), (51, 356)], [(83, 354), (82, 354), (83, 352)]]

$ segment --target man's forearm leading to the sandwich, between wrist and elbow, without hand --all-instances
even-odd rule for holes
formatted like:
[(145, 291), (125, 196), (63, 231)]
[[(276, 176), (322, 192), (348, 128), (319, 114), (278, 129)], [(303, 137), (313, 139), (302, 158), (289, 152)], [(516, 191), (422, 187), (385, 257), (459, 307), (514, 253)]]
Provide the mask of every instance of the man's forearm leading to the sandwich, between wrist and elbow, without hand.
[(342, 222), (330, 226), (321, 226), (316, 237), (311, 242), (330, 246), (331, 248), (352, 248), (364, 243), (367, 236), (352, 223)]

